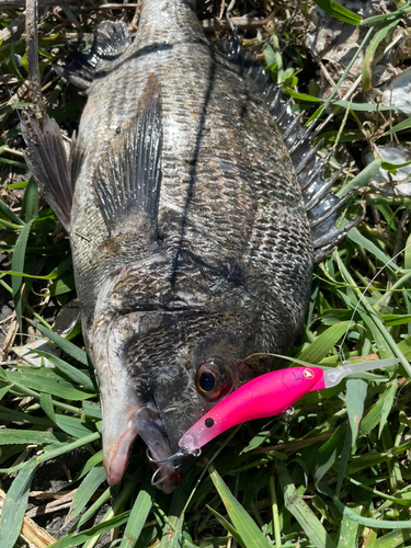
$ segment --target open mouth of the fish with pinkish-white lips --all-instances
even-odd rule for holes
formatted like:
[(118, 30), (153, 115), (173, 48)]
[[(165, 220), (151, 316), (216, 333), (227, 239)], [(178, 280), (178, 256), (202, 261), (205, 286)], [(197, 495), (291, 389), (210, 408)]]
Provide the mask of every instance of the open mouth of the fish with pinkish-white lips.
[(172, 455), (170, 442), (162, 427), (160, 414), (150, 402), (129, 414), (124, 432), (117, 434), (114, 443), (107, 445), (104, 444), (103, 439), (103, 465), (107, 473), (109, 484), (115, 486), (122, 480), (137, 435), (147, 445), (157, 487), (164, 493), (171, 493), (181, 484), (182, 478), (173, 461), (168, 461)]

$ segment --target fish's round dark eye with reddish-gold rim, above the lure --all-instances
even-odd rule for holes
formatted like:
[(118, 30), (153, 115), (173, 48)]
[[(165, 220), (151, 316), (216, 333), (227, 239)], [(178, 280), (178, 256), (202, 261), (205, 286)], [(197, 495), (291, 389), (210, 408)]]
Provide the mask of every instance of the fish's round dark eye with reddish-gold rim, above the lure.
[(197, 392), (207, 401), (216, 401), (231, 388), (231, 376), (228, 366), (219, 357), (207, 359), (198, 367), (195, 376)]

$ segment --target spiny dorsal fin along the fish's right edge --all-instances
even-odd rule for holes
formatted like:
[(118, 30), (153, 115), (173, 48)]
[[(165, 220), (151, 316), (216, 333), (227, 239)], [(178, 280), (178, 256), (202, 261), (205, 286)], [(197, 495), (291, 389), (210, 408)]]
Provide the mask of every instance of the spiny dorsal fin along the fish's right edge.
[(336, 212), (346, 199), (342, 202), (329, 192), (333, 181), (326, 181), (322, 176), (327, 159), (322, 160), (317, 155), (321, 142), (311, 146), (312, 130), (299, 123), (298, 116), (292, 112), (290, 100), (285, 98), (254, 57), (241, 48), (236, 33), (230, 41), (219, 44), (219, 50), (233, 62), (250, 89), (263, 96), (274, 117), (298, 176), (311, 228), (315, 261), (319, 262), (361, 221), (362, 216), (341, 229), (335, 227)]

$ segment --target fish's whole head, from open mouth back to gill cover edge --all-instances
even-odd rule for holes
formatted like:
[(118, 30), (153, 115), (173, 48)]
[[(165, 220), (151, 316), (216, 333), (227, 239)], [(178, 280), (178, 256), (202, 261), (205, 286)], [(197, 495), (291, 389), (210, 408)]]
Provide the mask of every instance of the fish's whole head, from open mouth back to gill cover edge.
[[(250, 354), (278, 350), (262, 305), (270, 299), (260, 296), (256, 306), (241, 284), (195, 269), (184, 276), (190, 288), (170, 289), (169, 263), (159, 254), (107, 279), (87, 335), (109, 482), (122, 479), (139, 436), (152, 467), (161, 467), (157, 479), (164, 492), (180, 484), (194, 460), (170, 459), (183, 434), (228, 393), (273, 368), (271, 357)], [(283, 310), (278, 323), (288, 333), (285, 317)]]

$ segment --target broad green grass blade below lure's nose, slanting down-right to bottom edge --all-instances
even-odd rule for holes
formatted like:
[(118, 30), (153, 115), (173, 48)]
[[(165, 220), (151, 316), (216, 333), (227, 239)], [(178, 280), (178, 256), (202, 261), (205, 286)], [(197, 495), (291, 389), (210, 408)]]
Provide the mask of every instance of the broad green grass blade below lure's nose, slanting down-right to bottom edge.
[(214, 466), (208, 469), (230, 520), (247, 548), (269, 548), (270, 544), (241, 504), (235, 499)]

